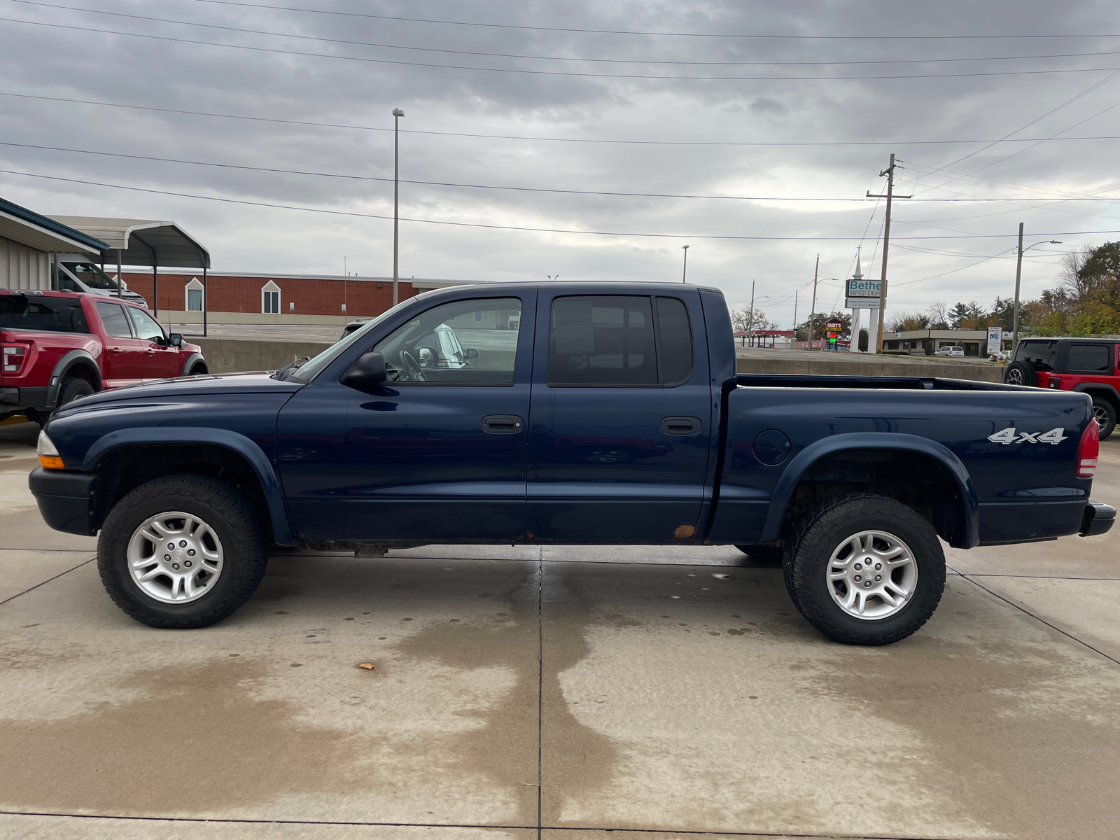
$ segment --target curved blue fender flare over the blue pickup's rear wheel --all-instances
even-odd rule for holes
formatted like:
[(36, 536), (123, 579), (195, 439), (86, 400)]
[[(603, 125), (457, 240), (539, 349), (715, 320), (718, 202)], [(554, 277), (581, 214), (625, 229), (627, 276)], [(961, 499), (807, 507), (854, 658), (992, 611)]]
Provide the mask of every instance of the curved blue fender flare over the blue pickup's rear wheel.
[(818, 460), (844, 449), (893, 449), (896, 451), (918, 452), (935, 458), (944, 466), (956, 482), (956, 488), (964, 504), (964, 543), (954, 548), (974, 548), (980, 544), (980, 505), (977, 502), (976, 487), (972, 477), (952, 450), (928, 438), (917, 435), (898, 435), (884, 432), (852, 432), (833, 435), (802, 449), (790, 461), (782, 473), (774, 495), (771, 497), (769, 510), (766, 513), (766, 524), (763, 528), (762, 543), (776, 542), (781, 535), (782, 520), (785, 510), (793, 498), (797, 483), (805, 472)]

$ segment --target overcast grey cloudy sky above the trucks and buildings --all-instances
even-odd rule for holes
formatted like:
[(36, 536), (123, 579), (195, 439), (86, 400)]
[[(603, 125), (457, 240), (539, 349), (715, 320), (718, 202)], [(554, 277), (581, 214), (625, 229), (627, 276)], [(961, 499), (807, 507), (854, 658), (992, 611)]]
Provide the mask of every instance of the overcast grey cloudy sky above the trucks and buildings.
[(790, 324), (818, 254), (878, 276), (890, 152), (892, 309), (1010, 295), (1019, 222), (1063, 242), (1025, 297), (1120, 239), (1109, 0), (0, 0), (0, 195), (215, 270), (391, 273), (393, 108), (403, 277), (680, 280), (687, 244)]

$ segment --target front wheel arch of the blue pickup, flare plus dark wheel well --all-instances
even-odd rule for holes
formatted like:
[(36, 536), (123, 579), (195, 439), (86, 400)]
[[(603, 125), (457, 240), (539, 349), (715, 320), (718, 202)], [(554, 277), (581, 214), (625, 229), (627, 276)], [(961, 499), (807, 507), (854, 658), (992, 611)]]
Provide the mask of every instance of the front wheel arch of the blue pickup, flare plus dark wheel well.
[(134, 428), (100, 438), (86, 452), (82, 470), (97, 473), (96, 526), (130, 489), (165, 475), (200, 473), (226, 480), (244, 493), (262, 526), (280, 545), (296, 543), (283, 492), (263, 450), (228, 429)]

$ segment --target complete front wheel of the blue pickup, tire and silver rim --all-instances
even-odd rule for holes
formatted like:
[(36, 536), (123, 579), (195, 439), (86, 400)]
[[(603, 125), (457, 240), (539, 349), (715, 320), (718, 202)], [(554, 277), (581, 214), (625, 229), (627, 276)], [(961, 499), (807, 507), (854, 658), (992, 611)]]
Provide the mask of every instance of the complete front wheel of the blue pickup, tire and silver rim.
[(228, 485), (170, 475), (125, 495), (97, 540), (109, 596), (149, 627), (205, 627), (236, 612), (268, 564), (260, 526)]

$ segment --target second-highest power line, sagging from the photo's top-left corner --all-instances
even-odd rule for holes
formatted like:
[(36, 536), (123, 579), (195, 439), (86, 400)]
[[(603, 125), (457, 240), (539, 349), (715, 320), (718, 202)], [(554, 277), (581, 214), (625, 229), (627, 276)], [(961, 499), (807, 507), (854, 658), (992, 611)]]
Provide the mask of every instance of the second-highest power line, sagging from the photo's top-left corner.
[(315, 35), (301, 35), (298, 32), (274, 32), (267, 29), (248, 29), (244, 27), (222, 26), (218, 24), (203, 24), (195, 20), (174, 20), (171, 18), (156, 18), (148, 15), (129, 15), (120, 11), (105, 11), (102, 9), (86, 9), (80, 6), (60, 6), (58, 3), (44, 3), (38, 0), (9, 0), (9, 2), (21, 6), (37, 6), (46, 9), (64, 9), (66, 11), (80, 11), (90, 15), (108, 15), (118, 18), (131, 18), (133, 20), (148, 20), (157, 24), (175, 24), (176, 26), (197, 26), (207, 29), (220, 29), (227, 32), (243, 32), (249, 35), (267, 35), (276, 38), (298, 38), (300, 40), (314, 40), (323, 44), (345, 44), (358, 47), (376, 47), (379, 49), (407, 49), (418, 53), (444, 53), (448, 55), (472, 55), (487, 58), (526, 58), (541, 62), (589, 62), (597, 64), (663, 64), (663, 65), (685, 65), (685, 66), (732, 66), (732, 67), (784, 67), (784, 66), (848, 66), (848, 65), (877, 65), (877, 64), (945, 64), (953, 62), (1018, 62), (1036, 60), (1044, 58), (1090, 58), (1096, 56), (1120, 55), (1120, 50), (1096, 52), (1096, 53), (1056, 53), (1046, 55), (1016, 55), (1016, 56), (973, 56), (961, 58), (876, 58), (848, 62), (683, 62), (663, 60), (647, 58), (586, 58), (581, 56), (542, 56), (524, 55), (520, 53), (486, 53), (468, 49), (441, 49), (437, 47), (413, 47), (401, 44), (377, 44), (364, 40), (347, 40), (344, 38), (325, 38)]

